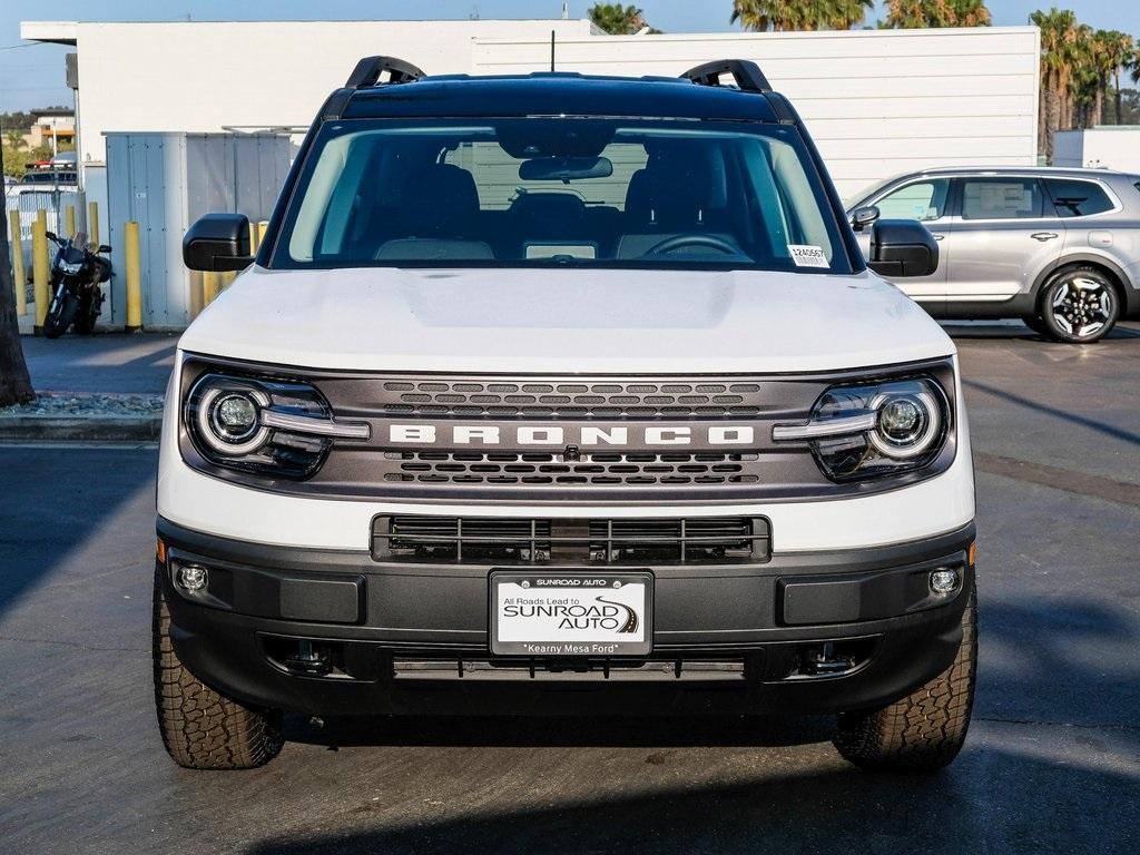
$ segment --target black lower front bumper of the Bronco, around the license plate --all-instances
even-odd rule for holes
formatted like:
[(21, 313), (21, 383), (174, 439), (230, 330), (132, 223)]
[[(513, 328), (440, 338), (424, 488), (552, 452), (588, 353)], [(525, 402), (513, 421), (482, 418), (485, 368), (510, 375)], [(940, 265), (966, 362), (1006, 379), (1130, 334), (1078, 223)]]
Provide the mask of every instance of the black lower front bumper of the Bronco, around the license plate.
[[(269, 547), (164, 520), (158, 567), (182, 662), (259, 707), (360, 714), (816, 714), (882, 706), (952, 662), (972, 585), (972, 524), (922, 542), (648, 568), (653, 651), (496, 658), (490, 565), (381, 563)], [(206, 593), (174, 585), (204, 565)], [(937, 568), (960, 571), (948, 596)], [(594, 569), (592, 568), (592, 571)]]

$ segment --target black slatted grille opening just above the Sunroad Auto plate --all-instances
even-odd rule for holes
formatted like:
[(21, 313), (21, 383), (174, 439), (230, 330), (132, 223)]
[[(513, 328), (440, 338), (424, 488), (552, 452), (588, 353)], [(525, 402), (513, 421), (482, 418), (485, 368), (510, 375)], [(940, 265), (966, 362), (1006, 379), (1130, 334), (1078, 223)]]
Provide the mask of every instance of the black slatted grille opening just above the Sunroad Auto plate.
[(377, 561), (656, 564), (759, 562), (772, 532), (759, 516), (561, 520), (378, 516)]

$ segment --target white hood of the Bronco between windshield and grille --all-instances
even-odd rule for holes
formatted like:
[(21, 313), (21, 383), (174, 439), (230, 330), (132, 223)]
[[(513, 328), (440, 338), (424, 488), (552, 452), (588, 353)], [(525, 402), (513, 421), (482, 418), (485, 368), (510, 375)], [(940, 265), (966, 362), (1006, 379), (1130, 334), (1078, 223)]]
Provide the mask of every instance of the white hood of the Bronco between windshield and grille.
[(870, 272), (503, 268), (251, 268), (180, 347), (311, 368), (544, 374), (813, 372), (954, 352)]

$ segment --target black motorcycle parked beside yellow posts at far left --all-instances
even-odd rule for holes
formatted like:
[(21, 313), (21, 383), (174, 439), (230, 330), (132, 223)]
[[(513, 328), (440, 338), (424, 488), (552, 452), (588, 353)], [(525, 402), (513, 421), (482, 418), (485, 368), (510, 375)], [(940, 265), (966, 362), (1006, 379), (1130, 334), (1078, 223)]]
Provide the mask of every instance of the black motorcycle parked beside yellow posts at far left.
[(111, 279), (111, 261), (98, 253), (111, 252), (106, 244), (91, 252), (87, 234), (79, 231), (71, 241), (48, 233), (59, 249), (51, 262), (51, 303), (43, 319), (43, 335), (58, 339), (75, 325), (75, 332), (89, 335), (103, 309), (103, 288)]

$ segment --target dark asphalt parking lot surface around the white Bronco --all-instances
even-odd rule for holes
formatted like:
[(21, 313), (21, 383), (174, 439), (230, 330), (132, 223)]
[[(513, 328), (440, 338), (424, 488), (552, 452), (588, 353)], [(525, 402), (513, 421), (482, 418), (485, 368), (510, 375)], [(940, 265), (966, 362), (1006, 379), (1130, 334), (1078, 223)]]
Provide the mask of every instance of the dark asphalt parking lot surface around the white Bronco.
[(857, 772), (814, 719), (290, 720), (262, 769), (179, 769), (152, 708), (155, 450), (9, 446), (0, 852), (1135, 852), (1140, 324), (952, 332), (982, 658), (945, 772)]

